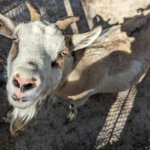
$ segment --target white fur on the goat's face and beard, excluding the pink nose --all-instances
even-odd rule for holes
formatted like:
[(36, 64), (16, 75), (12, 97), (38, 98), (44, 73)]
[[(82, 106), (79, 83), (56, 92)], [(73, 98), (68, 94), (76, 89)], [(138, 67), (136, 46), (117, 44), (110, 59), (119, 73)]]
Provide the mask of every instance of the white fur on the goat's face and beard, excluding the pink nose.
[[(43, 99), (49, 88), (56, 86), (61, 79), (62, 71), (59, 68), (52, 69), (51, 63), (64, 48), (65, 41), (61, 31), (54, 24), (47, 26), (40, 21), (19, 24), (15, 29), (15, 34), (19, 39), (19, 53), (13, 62), (10, 60), (11, 54), (8, 57), (8, 97), (9, 102), (14, 106), (13, 119), (19, 117), (22, 120), (29, 121), (36, 114), (37, 103)], [(35, 68), (34, 74), (32, 71), (34, 68), (28, 64), (29, 61), (38, 64), (38, 69)], [(40, 87), (27, 92), (31, 100), (22, 103), (22, 105), (14, 102), (11, 98), (14, 93), (12, 80), (17, 73), (21, 74), (22, 77), (25, 75), (26, 78), (35, 77), (40, 79)]]

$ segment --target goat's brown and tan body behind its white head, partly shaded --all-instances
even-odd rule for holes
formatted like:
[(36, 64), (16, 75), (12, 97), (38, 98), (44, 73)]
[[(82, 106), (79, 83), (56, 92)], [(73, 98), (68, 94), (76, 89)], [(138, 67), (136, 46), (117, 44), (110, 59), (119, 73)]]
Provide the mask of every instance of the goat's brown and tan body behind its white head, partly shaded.
[(71, 64), (65, 69), (70, 73), (55, 91), (62, 99), (76, 101), (136, 84), (150, 65), (150, 15), (111, 28), (90, 47), (75, 52)]

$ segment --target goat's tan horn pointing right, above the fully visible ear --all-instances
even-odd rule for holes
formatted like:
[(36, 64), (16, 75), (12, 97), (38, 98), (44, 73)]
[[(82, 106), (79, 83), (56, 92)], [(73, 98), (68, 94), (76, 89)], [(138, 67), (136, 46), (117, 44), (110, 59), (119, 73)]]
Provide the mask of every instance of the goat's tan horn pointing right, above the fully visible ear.
[(59, 29), (65, 30), (70, 24), (75, 23), (79, 20), (79, 17), (69, 16), (56, 22)]

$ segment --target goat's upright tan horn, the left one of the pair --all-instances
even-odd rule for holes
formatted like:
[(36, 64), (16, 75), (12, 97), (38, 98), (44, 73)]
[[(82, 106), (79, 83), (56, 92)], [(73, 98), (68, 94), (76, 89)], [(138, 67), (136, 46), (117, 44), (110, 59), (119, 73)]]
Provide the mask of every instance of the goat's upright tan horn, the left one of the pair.
[(30, 12), (32, 21), (41, 20), (40, 14), (37, 12), (37, 10), (33, 6), (31, 6), (31, 4), (29, 2), (26, 2), (26, 6)]

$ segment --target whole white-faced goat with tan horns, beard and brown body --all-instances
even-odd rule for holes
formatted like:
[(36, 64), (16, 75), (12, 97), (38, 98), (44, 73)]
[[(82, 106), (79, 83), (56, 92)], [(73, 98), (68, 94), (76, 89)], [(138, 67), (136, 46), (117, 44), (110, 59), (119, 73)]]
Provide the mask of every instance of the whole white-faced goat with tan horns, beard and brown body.
[(0, 34), (13, 39), (7, 65), (8, 100), (14, 106), (11, 126), (19, 129), (18, 122), (31, 120), (48, 94), (73, 104), (72, 119), (89, 96), (125, 90), (149, 69), (150, 15), (112, 27), (101, 37), (100, 26), (66, 35), (63, 31), (77, 17), (51, 24), (42, 22), (29, 3), (27, 7), (28, 23), (17, 24), (0, 14)]

